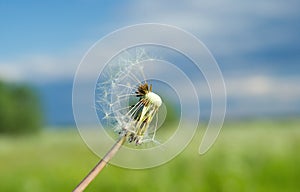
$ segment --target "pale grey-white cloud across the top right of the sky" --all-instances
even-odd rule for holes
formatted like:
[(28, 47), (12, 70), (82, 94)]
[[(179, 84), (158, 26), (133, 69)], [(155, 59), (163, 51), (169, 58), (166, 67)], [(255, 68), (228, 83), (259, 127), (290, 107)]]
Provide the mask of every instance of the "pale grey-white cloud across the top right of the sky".
[(274, 21), (293, 18), (298, 14), (297, 4), (280, 0), (138, 1), (127, 14), (138, 22), (181, 27), (196, 34), (218, 55), (238, 56), (289, 38), (286, 29)]

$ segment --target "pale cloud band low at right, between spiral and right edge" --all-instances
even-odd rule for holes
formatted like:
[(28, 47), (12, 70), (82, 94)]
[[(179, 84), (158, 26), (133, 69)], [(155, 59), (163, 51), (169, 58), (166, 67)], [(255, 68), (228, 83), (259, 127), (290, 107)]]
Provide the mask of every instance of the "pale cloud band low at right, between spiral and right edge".
[(226, 78), (228, 116), (297, 114), (300, 77), (250, 75)]

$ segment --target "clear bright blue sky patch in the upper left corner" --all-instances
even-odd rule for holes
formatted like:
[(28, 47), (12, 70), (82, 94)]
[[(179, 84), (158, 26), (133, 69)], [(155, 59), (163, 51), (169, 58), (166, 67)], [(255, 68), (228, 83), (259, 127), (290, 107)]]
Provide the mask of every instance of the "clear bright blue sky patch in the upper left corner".
[(110, 32), (107, 24), (117, 19), (111, 18), (115, 11), (114, 4), (109, 1), (102, 4), (88, 1), (2, 2), (1, 42), (5, 46), (1, 49), (1, 57), (59, 54), (81, 42), (99, 38)]

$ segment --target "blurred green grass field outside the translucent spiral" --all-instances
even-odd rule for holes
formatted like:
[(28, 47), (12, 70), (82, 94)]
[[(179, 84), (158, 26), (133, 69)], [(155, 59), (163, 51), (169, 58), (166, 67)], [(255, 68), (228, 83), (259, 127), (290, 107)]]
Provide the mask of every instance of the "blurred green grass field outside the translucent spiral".
[[(171, 162), (107, 166), (86, 191), (299, 191), (299, 128), (298, 120), (228, 122), (203, 156), (198, 132)], [(76, 129), (0, 135), (0, 191), (72, 191), (98, 160)]]

